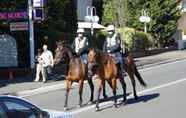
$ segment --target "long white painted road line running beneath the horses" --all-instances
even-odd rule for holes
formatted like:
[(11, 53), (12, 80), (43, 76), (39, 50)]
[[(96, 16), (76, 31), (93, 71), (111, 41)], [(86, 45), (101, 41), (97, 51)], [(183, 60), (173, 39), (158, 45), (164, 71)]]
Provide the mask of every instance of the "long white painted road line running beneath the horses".
[[(172, 82), (169, 82), (169, 83), (166, 83), (166, 84), (162, 84), (162, 85), (159, 85), (159, 86), (156, 86), (156, 87), (152, 87), (150, 89), (145, 89), (145, 90), (137, 92), (137, 94), (140, 95), (140, 94), (148, 93), (148, 92), (155, 91), (155, 90), (158, 90), (158, 89), (161, 89), (161, 88), (176, 85), (176, 84), (179, 84), (179, 83), (184, 82), (184, 81), (186, 81), (186, 78), (182, 78), (182, 79), (179, 79), (177, 81), (172, 81)], [(127, 99), (129, 99), (131, 97), (133, 97), (133, 94), (130, 94), (129, 96), (127, 96)], [(119, 100), (122, 100), (122, 98), (118, 99), (118, 101)], [(106, 105), (112, 105), (112, 104), (113, 104), (113, 101), (108, 101), (108, 102), (100, 103), (99, 105), (100, 106), (106, 106)], [(95, 108), (95, 104), (91, 105), (91, 106), (84, 107), (84, 108), (80, 108), (80, 109), (75, 110), (75, 111), (72, 111), (71, 114), (78, 114), (78, 113), (81, 113), (81, 112), (84, 112), (84, 111), (87, 111), (87, 110), (90, 110), (90, 109), (93, 109), (93, 108)]]

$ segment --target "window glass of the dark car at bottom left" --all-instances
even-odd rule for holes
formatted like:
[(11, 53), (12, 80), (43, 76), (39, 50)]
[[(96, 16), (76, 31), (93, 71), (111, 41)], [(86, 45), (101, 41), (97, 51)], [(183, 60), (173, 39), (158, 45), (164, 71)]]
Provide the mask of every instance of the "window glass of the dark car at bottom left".
[(20, 101), (5, 101), (9, 118), (38, 118), (39, 113), (37, 108)]

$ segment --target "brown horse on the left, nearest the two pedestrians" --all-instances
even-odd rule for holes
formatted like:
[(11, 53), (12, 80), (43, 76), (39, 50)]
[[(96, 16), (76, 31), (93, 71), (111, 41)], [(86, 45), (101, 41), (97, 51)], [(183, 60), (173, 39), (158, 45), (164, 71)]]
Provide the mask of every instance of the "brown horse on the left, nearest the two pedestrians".
[[(84, 80), (87, 79), (87, 68), (86, 65), (81, 61), (80, 57), (73, 53), (73, 50), (63, 43), (59, 42), (57, 44), (57, 49), (55, 51), (54, 64), (60, 65), (60, 63), (67, 64), (66, 71), (66, 99), (64, 110), (68, 109), (68, 96), (73, 82), (79, 83), (79, 106), (82, 105), (82, 93), (83, 93), (83, 84)], [(88, 83), (91, 88), (91, 98), (90, 101), (93, 101), (94, 86), (90, 79)]]

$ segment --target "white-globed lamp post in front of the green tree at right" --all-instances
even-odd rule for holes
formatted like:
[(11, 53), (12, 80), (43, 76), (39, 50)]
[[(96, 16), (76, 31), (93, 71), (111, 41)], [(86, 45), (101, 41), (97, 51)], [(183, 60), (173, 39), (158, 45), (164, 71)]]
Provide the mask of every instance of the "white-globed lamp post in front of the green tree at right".
[(140, 22), (144, 23), (144, 32), (147, 33), (147, 23), (150, 22), (150, 17), (146, 10), (142, 10), (142, 15), (139, 18)]

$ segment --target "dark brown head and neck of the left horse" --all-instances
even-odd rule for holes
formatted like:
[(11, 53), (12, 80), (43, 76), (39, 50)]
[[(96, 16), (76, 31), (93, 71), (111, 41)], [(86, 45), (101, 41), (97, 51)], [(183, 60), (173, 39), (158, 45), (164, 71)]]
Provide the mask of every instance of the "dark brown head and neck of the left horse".
[(64, 42), (57, 42), (57, 48), (55, 50), (54, 64), (69, 63), (73, 57), (72, 50)]

